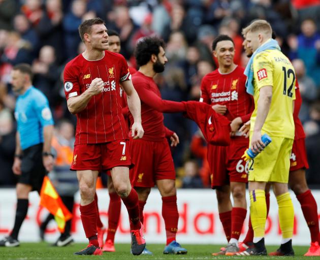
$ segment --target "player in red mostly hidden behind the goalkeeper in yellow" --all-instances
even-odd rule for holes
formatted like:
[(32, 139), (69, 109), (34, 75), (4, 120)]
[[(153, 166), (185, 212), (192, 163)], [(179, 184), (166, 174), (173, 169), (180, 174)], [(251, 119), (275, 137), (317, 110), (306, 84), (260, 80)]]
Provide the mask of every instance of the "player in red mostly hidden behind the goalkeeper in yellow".
[[(245, 29), (242, 30), (243, 37), (246, 37), (247, 31)], [(274, 38), (274, 37), (272, 37)], [(252, 50), (247, 48), (246, 40), (243, 41), (243, 47), (245, 49), (245, 53), (247, 57), (252, 56)], [(290, 156), (290, 173), (289, 173), (289, 184), (291, 189), (295, 192), (298, 201), (301, 204), (301, 209), (304, 215), (304, 218), (309, 227), (310, 235), (311, 235), (311, 245), (306, 256), (311, 255), (320, 255), (320, 247), (319, 247), (319, 224), (318, 224), (318, 214), (317, 214), (317, 205), (312, 196), (311, 190), (308, 188), (306, 177), (305, 177), (305, 169), (308, 169), (308, 161), (307, 154), (305, 148), (305, 133), (303, 130), (302, 123), (299, 119), (299, 110), (302, 104), (302, 99), (299, 91), (298, 81), (296, 81), (296, 100), (294, 106), (294, 122), (295, 122), (295, 140), (292, 147), (292, 152)], [(267, 185), (266, 189), (266, 204), (267, 204), (267, 215), (270, 206), (270, 194)], [(249, 246), (252, 245), (253, 241), (253, 229), (251, 221), (249, 220), (248, 232), (246, 234), (243, 242), (239, 243), (240, 251), (246, 250)], [(282, 255), (281, 250), (277, 250), (276, 252), (270, 253), (270, 255)]]

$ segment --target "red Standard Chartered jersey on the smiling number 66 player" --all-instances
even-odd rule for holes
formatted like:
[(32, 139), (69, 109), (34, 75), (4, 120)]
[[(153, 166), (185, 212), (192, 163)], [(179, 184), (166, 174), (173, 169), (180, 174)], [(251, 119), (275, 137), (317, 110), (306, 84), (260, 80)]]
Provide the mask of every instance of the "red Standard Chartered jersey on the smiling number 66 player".
[(208, 73), (201, 82), (200, 101), (211, 105), (226, 105), (225, 116), (232, 121), (240, 116), (245, 123), (254, 109), (251, 95), (246, 92), (244, 69), (237, 66), (233, 72), (221, 74), (219, 70)]

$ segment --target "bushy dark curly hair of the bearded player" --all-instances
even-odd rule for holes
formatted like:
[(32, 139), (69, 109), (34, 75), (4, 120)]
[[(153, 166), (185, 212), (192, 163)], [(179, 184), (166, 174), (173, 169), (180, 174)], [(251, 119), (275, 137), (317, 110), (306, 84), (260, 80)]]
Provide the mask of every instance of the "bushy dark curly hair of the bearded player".
[(145, 37), (137, 43), (135, 56), (137, 64), (143, 66), (149, 62), (151, 55), (158, 55), (160, 47), (165, 48), (164, 40), (158, 37)]

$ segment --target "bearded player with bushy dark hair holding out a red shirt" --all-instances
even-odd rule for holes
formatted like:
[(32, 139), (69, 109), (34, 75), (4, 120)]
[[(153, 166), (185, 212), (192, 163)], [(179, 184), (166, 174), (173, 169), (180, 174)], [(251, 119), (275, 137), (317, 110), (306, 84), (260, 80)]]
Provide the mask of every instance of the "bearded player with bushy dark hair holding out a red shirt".
[[(165, 69), (168, 61), (165, 43), (158, 38), (144, 38), (136, 46), (136, 59), (140, 66), (132, 81), (141, 100), (142, 125), (145, 135), (142, 139), (130, 140), (135, 167), (130, 170), (130, 180), (139, 196), (140, 217), (143, 222), (143, 208), (151, 187), (157, 185), (162, 196), (162, 216), (165, 220), (167, 246), (165, 254), (185, 254), (187, 250), (176, 242), (179, 213), (175, 187), (175, 170), (170, 147), (179, 143), (176, 133), (164, 126), (163, 113), (182, 112), (184, 105), (161, 99), (160, 91), (153, 81), (157, 73)], [(130, 114), (133, 122), (133, 115)]]

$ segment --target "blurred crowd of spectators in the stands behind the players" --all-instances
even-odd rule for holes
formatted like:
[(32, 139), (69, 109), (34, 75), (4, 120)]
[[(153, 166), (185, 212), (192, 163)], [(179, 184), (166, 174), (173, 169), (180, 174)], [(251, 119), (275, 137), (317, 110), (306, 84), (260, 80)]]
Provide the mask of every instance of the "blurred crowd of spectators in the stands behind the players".
[[(121, 54), (134, 67), (133, 51), (141, 37), (157, 35), (166, 41), (169, 62), (156, 82), (163, 99), (173, 101), (199, 100), (201, 79), (216, 69), (211, 44), (218, 34), (234, 40), (235, 63), (246, 66), (241, 28), (253, 19), (268, 20), (296, 70), (310, 164), (307, 180), (311, 187), (320, 187), (320, 0), (0, 0), (1, 186), (15, 183), (12, 67), (31, 64), (34, 86), (47, 96), (55, 122), (75, 123), (67, 109), (62, 72), (66, 62), (84, 50), (78, 26), (93, 17), (119, 32)], [(165, 125), (180, 138), (172, 151), (177, 186), (210, 186), (206, 144), (197, 125), (181, 114), (165, 114)]]

